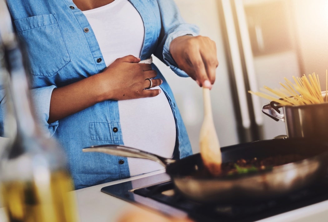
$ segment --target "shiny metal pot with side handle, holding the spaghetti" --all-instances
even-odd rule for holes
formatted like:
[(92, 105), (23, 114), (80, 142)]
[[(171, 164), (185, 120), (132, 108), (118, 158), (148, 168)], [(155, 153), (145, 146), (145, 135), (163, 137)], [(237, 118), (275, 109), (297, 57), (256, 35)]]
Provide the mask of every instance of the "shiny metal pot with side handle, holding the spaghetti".
[(285, 122), (289, 138), (328, 142), (328, 103), (281, 106), (271, 101), (263, 105), (262, 112), (276, 121)]

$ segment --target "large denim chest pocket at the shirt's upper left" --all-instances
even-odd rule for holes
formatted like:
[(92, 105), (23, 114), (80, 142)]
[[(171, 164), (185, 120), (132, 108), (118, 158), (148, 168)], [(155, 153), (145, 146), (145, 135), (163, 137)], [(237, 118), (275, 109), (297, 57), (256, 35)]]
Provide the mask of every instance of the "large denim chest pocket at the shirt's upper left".
[(71, 61), (56, 14), (18, 19), (14, 24), (32, 75), (53, 76)]

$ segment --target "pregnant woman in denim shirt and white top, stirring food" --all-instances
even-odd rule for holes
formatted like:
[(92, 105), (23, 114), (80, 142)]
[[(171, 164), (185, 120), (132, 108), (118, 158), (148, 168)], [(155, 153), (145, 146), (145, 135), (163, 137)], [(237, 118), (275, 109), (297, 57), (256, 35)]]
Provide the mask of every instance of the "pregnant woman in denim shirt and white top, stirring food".
[[(42, 126), (65, 149), (76, 189), (162, 167), (84, 153), (124, 144), (164, 157), (192, 154), (173, 93), (151, 56), (212, 87), (215, 43), (173, 0), (8, 0)], [(1, 98), (0, 98), (1, 99)]]

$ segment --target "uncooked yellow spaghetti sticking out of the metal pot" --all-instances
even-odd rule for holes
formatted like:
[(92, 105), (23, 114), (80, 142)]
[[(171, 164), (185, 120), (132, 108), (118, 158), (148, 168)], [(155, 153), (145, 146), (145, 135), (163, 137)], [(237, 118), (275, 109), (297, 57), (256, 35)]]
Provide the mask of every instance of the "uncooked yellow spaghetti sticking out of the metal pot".
[(287, 78), (284, 78), (285, 83), (280, 85), (283, 87), (279, 90), (271, 89), (263, 86), (262, 92), (248, 91), (256, 96), (275, 101), (282, 106), (295, 106), (318, 104), (327, 101), (328, 96), (328, 73), (326, 70), (326, 90), (321, 91), (319, 76), (313, 73), (307, 78), (305, 75), (302, 77), (293, 76), (294, 83)]

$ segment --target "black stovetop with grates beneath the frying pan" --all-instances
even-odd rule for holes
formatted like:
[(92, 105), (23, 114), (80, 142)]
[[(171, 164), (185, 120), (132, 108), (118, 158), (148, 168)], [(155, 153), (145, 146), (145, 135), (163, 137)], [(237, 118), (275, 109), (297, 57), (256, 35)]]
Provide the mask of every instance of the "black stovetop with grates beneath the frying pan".
[[(328, 178), (324, 179), (328, 184)], [(328, 200), (328, 186), (295, 191), (260, 202), (203, 204), (186, 199), (174, 189), (170, 176), (160, 173), (101, 189), (117, 198), (138, 203), (168, 215), (188, 215), (195, 221), (256, 221)]]

